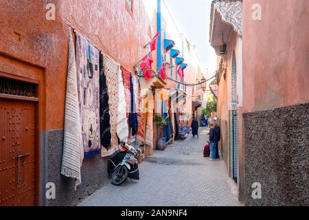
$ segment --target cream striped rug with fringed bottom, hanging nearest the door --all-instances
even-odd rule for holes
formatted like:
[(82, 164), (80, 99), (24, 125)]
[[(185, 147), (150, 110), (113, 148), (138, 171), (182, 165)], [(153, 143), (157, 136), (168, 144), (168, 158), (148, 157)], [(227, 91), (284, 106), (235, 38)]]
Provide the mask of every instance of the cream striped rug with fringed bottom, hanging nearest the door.
[(82, 183), (80, 167), (84, 158), (82, 145), (82, 122), (78, 104), (78, 83), (76, 57), (73, 39), (69, 39), (69, 58), (67, 67), (67, 92), (65, 99), (65, 128), (62, 151), (61, 174), (76, 179), (76, 187)]

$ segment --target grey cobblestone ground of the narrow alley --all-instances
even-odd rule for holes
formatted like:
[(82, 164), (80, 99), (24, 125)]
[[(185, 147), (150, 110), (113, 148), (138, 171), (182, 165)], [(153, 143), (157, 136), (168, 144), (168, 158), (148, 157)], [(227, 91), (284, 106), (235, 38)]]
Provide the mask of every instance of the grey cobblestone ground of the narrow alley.
[(139, 166), (139, 181), (104, 186), (78, 206), (240, 206), (224, 162), (203, 157), (208, 132), (155, 151)]

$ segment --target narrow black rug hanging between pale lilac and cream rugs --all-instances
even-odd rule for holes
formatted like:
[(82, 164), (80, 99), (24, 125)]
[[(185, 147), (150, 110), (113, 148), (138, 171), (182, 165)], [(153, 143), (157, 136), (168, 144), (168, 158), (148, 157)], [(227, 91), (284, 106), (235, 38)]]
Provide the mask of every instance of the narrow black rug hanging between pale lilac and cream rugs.
[(111, 123), (108, 106), (108, 88), (104, 74), (103, 54), (100, 54), (100, 137), (104, 151), (111, 148)]

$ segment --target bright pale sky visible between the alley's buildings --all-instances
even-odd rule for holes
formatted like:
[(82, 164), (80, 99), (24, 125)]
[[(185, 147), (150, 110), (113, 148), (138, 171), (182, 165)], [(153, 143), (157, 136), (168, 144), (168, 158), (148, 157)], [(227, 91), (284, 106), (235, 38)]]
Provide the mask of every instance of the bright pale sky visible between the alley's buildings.
[(211, 0), (162, 0), (166, 4), (180, 32), (196, 45), (203, 72), (216, 71), (216, 53), (209, 43)]

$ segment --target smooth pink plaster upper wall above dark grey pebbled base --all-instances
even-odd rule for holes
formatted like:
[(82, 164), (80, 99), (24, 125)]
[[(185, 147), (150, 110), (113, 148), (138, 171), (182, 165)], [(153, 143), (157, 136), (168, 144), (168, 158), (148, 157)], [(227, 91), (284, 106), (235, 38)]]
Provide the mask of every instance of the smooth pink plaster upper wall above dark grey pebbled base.
[(308, 0), (243, 1), (244, 112), (309, 102), (308, 17)]

